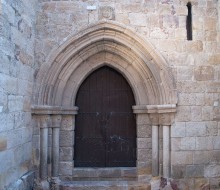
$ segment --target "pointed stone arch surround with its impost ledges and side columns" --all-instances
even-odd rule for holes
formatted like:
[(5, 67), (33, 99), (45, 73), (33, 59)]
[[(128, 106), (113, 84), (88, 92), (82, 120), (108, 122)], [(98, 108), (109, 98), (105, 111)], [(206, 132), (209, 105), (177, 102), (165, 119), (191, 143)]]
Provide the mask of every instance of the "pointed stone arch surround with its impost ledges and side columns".
[[(57, 148), (60, 147), (59, 130), (64, 131), (61, 139), (68, 135), (74, 139), (78, 89), (89, 74), (105, 65), (121, 73), (131, 86), (136, 102), (133, 112), (137, 115), (137, 130), (141, 126), (152, 125), (152, 160), (147, 160), (145, 150), (138, 143), (147, 137), (137, 135), (138, 173), (144, 171), (144, 174), (149, 174), (150, 171), (153, 176), (159, 174), (158, 129), (163, 126), (163, 171), (164, 176), (169, 177), (169, 126), (177, 103), (171, 69), (157, 50), (137, 32), (115, 21), (101, 21), (55, 47), (37, 73), (32, 113), (40, 116), (37, 123), (40, 128), (41, 179), (48, 177), (48, 128), (52, 128), (53, 138), (52, 176), (57, 177), (59, 165), (62, 165)], [(61, 116), (72, 122), (68, 129), (62, 126)], [(71, 150), (72, 141), (67, 144), (65, 146)], [(69, 160), (70, 165), (72, 162)]]

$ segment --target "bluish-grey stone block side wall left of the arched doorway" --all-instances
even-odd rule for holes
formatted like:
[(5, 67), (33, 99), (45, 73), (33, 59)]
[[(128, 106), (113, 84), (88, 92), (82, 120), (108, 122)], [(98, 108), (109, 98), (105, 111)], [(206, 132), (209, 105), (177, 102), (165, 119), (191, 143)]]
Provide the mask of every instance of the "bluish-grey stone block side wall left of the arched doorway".
[[(0, 0), (0, 189), (33, 185), (35, 0)], [(20, 178), (20, 179), (19, 179)], [(26, 181), (26, 179), (28, 179)], [(32, 183), (32, 184), (31, 184)]]

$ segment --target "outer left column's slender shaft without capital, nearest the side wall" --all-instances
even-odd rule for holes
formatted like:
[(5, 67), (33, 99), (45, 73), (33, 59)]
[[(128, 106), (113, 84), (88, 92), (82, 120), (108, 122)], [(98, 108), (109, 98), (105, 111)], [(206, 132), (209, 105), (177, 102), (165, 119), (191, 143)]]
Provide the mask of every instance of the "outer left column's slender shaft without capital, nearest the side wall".
[(40, 177), (47, 178), (48, 128), (40, 129)]

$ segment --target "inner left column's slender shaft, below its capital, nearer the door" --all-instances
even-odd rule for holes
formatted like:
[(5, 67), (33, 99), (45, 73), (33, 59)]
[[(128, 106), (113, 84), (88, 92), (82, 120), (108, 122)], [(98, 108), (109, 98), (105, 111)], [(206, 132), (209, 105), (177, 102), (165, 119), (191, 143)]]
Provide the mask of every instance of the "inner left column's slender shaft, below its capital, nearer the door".
[(60, 128), (53, 128), (52, 137), (52, 176), (58, 177), (59, 175), (59, 136)]

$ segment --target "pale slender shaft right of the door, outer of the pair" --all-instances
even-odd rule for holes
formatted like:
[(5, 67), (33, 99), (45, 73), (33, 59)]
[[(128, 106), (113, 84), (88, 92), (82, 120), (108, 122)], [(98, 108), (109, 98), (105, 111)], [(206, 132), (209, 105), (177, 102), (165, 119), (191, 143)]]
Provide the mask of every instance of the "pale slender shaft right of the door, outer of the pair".
[(170, 127), (163, 126), (163, 177), (170, 176)]

